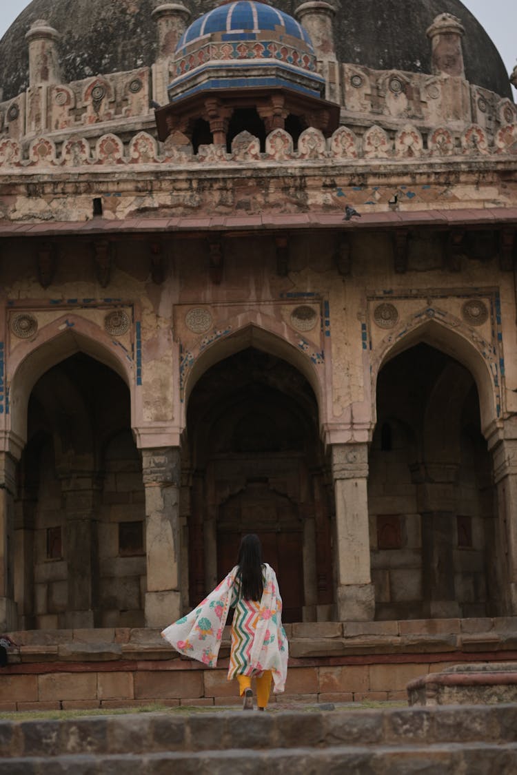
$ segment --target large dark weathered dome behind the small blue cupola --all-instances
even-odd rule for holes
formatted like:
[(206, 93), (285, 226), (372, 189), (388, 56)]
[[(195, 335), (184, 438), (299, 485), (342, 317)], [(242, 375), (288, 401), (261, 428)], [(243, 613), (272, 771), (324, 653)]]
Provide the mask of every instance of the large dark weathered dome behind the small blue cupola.
[[(208, 0), (183, 2), (194, 19), (209, 4)], [(289, 35), (300, 35), (291, 26), (291, 17), (301, 2), (274, 2)], [(47, 19), (61, 33), (59, 47), (64, 78), (75, 81), (98, 73), (152, 64), (157, 50), (157, 28), (151, 12), (157, 5), (160, 0), (33, 0), (0, 40), (0, 86), (4, 89), (4, 99), (18, 95), (27, 87), (29, 56), (25, 35), (36, 19)], [(211, 2), (210, 5), (219, 3)], [(221, 17), (209, 13), (212, 22), (215, 24), (215, 19), (225, 16), (227, 19), (232, 5), (215, 9)], [(463, 46), (467, 79), (511, 98), (508, 74), (494, 43), (460, 0), (411, 0), (410, 12), (408, 0), (333, 0), (333, 5), (337, 11), (334, 21), (336, 50), (341, 62), (419, 73), (431, 72), (431, 48), (426, 29), (439, 13), (452, 13), (465, 28)], [(274, 9), (266, 6), (264, 15), (272, 21), (274, 17), (270, 14), (273, 12)], [(192, 26), (199, 21), (197, 19)], [(306, 43), (305, 39), (303, 42)]]

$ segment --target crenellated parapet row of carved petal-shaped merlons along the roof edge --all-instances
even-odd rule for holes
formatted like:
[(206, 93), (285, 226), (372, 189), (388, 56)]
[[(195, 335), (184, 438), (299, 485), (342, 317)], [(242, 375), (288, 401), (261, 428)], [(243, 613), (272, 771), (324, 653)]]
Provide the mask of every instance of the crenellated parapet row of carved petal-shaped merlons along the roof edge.
[(501, 126), (490, 136), (479, 124), (470, 124), (463, 131), (438, 126), (423, 133), (415, 124), (401, 129), (387, 130), (374, 124), (362, 133), (339, 126), (326, 138), (315, 127), (305, 129), (295, 139), (284, 129), (274, 129), (265, 140), (264, 151), (260, 140), (247, 131), (239, 133), (231, 149), (213, 143), (200, 145), (194, 153), (191, 142), (181, 132), (171, 134), (165, 143), (158, 143), (153, 134), (145, 131), (105, 133), (87, 137), (81, 133), (40, 134), (33, 140), (0, 140), (0, 171), (37, 167), (41, 171), (58, 171), (63, 167), (102, 167), (127, 164), (153, 164), (183, 167), (185, 164), (250, 164), (252, 167), (268, 163), (299, 164), (301, 161), (318, 162), (332, 167), (336, 162), (358, 164), (368, 161), (397, 166), (412, 160), (457, 160), (465, 158), (517, 157), (517, 122)]

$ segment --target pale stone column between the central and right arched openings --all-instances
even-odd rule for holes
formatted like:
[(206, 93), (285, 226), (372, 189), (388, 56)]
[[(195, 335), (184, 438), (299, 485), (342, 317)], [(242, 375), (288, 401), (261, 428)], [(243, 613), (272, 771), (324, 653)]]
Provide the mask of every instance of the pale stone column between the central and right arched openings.
[(336, 498), (336, 605), (340, 622), (375, 615), (368, 526), (368, 446), (334, 444), (332, 473)]

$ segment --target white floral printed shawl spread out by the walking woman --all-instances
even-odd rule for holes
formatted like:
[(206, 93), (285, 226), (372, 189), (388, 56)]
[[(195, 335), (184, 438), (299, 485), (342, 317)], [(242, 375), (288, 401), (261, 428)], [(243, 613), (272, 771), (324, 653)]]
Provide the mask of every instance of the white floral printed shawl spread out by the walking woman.
[[(264, 593), (260, 605), (255, 604), (253, 608), (253, 617), (250, 611), (250, 620), (253, 618), (253, 645), (246, 652), (242, 649), (237, 660), (233, 658), (235, 654), (232, 654), (228, 680), (237, 673), (260, 675), (264, 670), (271, 670), (274, 692), (278, 694), (284, 691), (288, 672), (288, 639), (281, 622), (282, 601), (277, 577), (271, 566), (265, 563), (264, 567)], [(222, 630), (226, 625), (229, 608), (236, 604), (238, 598), (239, 585), (235, 583), (237, 570), (234, 567), (197, 608), (161, 633), (179, 653), (207, 667), (217, 665)]]

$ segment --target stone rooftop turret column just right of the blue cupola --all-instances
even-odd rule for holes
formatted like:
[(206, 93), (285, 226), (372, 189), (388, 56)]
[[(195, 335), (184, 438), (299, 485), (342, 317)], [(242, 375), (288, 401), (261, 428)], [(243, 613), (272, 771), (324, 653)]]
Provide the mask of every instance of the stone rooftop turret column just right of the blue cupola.
[(326, 98), (339, 102), (339, 66), (333, 29), (336, 9), (325, 0), (309, 0), (298, 6), (295, 15), (312, 40), (319, 71), (326, 81)]

